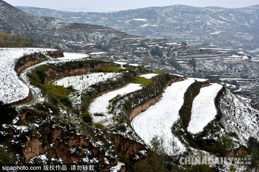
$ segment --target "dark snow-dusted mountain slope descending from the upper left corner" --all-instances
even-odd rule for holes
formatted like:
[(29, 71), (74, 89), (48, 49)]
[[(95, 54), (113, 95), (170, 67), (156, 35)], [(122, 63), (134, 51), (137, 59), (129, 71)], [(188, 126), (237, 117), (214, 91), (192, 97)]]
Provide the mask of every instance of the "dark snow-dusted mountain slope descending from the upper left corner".
[(132, 35), (103, 26), (74, 23), (54, 17), (34, 16), (3, 0), (0, 0), (0, 31), (35, 37), (51, 45), (67, 41), (95, 43), (132, 37)]

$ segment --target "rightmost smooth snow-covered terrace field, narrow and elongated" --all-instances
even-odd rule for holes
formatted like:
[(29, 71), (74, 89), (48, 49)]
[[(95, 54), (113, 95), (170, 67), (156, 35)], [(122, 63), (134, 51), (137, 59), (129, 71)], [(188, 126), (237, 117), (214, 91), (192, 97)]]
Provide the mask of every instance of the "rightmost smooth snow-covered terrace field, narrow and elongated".
[(203, 131), (203, 128), (215, 118), (217, 110), (214, 100), (221, 88), (222, 85), (212, 83), (210, 86), (200, 89), (200, 93), (193, 100), (188, 132), (196, 134)]

